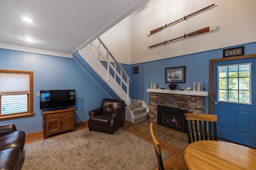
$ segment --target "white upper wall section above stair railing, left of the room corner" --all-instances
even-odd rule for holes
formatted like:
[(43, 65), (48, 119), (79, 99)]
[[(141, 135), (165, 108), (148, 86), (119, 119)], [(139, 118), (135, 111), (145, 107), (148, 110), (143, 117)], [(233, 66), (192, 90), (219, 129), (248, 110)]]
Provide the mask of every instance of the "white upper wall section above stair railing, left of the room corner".
[(110, 53), (122, 64), (130, 64), (130, 16), (100, 36)]

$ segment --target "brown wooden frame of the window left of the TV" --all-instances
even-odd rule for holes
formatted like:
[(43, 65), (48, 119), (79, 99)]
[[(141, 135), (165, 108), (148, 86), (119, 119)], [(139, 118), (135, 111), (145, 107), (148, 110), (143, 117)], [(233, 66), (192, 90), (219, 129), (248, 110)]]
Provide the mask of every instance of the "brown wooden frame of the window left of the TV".
[[(23, 73), (23, 74), (29, 74), (29, 93), (28, 93), (28, 109), (26, 112), (22, 112), (22, 113), (13, 113), (13, 114), (7, 114), (7, 115), (2, 115), (1, 114), (1, 109), (0, 109), (0, 121), (5, 121), (5, 120), (10, 120), (10, 119), (18, 119), (18, 118), (24, 118), (24, 117), (32, 117), (35, 113), (33, 113), (33, 77), (34, 77), (34, 73), (33, 71), (21, 71), (21, 70), (0, 70), (0, 73)], [(0, 108), (2, 108), (1, 106), (1, 98), (2, 95), (0, 95)]]

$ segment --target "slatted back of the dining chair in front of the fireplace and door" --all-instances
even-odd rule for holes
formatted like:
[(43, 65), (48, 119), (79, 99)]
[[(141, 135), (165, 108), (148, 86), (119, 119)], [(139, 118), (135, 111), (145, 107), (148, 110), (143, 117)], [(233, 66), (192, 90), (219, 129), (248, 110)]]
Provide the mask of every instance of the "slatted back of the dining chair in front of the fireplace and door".
[(214, 139), (214, 141), (217, 141), (217, 115), (194, 113), (185, 113), (184, 115), (187, 125), (188, 143), (212, 139)]

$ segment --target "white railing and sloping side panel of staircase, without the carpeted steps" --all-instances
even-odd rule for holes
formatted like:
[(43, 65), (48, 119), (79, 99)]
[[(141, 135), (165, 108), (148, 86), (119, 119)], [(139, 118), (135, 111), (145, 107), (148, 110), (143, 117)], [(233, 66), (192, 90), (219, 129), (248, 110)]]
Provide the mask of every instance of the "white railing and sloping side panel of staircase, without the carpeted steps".
[[(131, 100), (129, 82), (131, 79), (100, 38), (79, 50), (78, 53), (116, 95), (129, 105)], [(76, 57), (74, 58), (76, 59)]]

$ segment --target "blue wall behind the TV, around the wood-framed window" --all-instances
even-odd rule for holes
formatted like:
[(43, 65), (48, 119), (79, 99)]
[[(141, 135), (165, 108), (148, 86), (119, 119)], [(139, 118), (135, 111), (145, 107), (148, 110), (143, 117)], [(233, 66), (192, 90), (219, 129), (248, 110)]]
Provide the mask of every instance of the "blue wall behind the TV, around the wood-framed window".
[(101, 100), (111, 98), (74, 59), (0, 49), (0, 69), (34, 72), (33, 117), (0, 121), (14, 123), (18, 130), (42, 131), (43, 116), (39, 109), (40, 90), (76, 90), (76, 123), (89, 119), (88, 112), (100, 107)]

